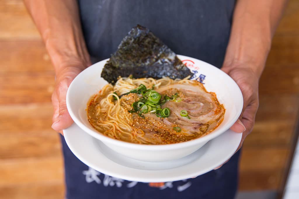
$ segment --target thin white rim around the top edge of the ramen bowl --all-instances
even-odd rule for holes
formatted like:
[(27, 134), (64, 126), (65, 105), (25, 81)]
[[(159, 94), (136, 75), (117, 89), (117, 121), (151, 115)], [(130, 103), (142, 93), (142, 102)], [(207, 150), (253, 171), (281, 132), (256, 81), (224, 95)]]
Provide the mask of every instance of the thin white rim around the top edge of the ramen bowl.
[[(177, 55), (178, 57), (184, 57), (184, 58), (191, 58), (191, 57), (187, 57), (184, 55)], [(192, 58), (192, 59), (196, 59), (196, 58)], [(104, 62), (104, 61), (108, 61), (109, 58), (104, 59), (102, 61), (99, 62)], [(242, 108), (243, 108), (243, 95), (242, 92), (239, 88), (239, 86), (237, 85), (237, 83), (225, 72), (223, 72), (222, 70), (220, 70), (219, 68), (205, 62), (199, 59), (196, 59), (200, 62), (204, 62), (205, 64), (208, 64), (210, 67), (214, 67), (217, 70), (219, 70), (220, 74), (222, 74), (223, 76), (226, 77), (226, 79), (230, 79), (231, 83), (237, 88), (235, 90), (235, 92), (237, 92), (237, 96), (239, 97), (238, 100), (240, 100), (242, 103), (240, 103), (239, 106), (239, 110), (237, 110), (237, 114), (234, 115), (233, 119), (231, 119), (231, 121), (229, 121), (225, 127), (222, 127), (221, 129), (216, 128), (215, 130), (213, 130), (212, 132), (208, 133), (207, 135), (204, 135), (202, 137), (199, 138), (195, 138), (193, 140), (189, 140), (189, 141), (185, 141), (185, 142), (180, 142), (180, 143), (174, 143), (174, 144), (137, 144), (137, 143), (130, 143), (130, 142), (126, 142), (126, 141), (122, 141), (122, 140), (116, 140), (113, 138), (110, 138), (106, 135), (101, 134), (100, 132), (96, 131), (96, 130), (91, 130), (89, 129), (85, 124), (83, 124), (83, 122), (80, 121), (80, 119), (78, 119), (70, 105), (70, 100), (72, 98), (70, 98), (71, 95), (71, 91), (73, 90), (74, 84), (75, 82), (81, 77), (81, 76), (85, 76), (85, 73), (87, 70), (90, 70), (90, 67), (94, 67), (97, 63), (92, 64), (91, 66), (87, 67), (85, 70), (83, 70), (82, 72), (80, 72), (75, 78), (74, 80), (71, 82), (70, 86), (68, 87), (68, 91), (66, 94), (66, 105), (67, 105), (67, 109), (68, 112), (71, 116), (71, 118), (73, 119), (73, 121), (86, 133), (88, 133), (89, 135), (91, 135), (92, 137), (102, 141), (104, 144), (112, 144), (115, 146), (120, 146), (123, 148), (130, 148), (130, 149), (138, 149), (138, 150), (150, 150), (150, 151), (157, 151), (157, 150), (170, 150), (170, 149), (178, 149), (178, 148), (185, 148), (185, 147), (189, 147), (189, 146), (193, 146), (202, 142), (208, 142), (209, 140), (221, 135), (222, 133), (224, 133), (225, 131), (227, 131), (239, 118), (241, 112), (242, 112)], [(84, 72), (85, 71), (85, 72)]]

